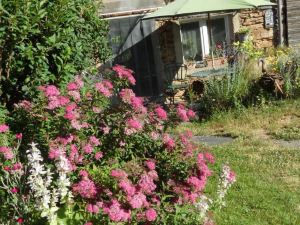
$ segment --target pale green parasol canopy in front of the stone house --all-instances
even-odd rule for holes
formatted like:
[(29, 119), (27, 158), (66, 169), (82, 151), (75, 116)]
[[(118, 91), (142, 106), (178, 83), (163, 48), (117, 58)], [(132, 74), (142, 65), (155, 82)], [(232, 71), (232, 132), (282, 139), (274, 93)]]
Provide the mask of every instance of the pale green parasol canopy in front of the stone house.
[(175, 0), (143, 19), (177, 17), (184, 15), (250, 9), (259, 6), (276, 5), (267, 0)]

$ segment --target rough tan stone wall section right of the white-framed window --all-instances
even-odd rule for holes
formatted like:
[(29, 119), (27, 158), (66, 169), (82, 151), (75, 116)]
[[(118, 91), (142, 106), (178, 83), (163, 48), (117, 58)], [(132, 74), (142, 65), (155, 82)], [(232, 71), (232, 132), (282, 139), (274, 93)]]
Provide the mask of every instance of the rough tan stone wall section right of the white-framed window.
[[(274, 15), (276, 15), (275, 12)], [(257, 47), (269, 48), (276, 45), (275, 28), (265, 28), (264, 26), (264, 10), (241, 10), (237, 16), (240, 26), (250, 28), (251, 36)]]

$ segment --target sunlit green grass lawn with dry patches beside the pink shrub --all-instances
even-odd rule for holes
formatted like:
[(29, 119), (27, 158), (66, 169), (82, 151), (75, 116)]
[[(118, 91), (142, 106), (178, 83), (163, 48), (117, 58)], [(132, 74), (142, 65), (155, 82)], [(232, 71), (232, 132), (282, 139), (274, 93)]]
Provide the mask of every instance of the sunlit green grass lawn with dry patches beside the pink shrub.
[(236, 137), (212, 148), (219, 163), (228, 162), (238, 179), (226, 207), (214, 215), (218, 225), (300, 224), (300, 146), (283, 147), (276, 140), (300, 139), (300, 100), (217, 113), (177, 132), (184, 129)]

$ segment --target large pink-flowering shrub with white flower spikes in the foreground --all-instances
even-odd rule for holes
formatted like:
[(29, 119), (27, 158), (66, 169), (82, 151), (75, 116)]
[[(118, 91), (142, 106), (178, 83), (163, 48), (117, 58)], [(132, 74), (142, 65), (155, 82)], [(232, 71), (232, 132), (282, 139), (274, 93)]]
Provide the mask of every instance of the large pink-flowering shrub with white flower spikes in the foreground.
[[(198, 149), (191, 132), (177, 137), (166, 131), (195, 113), (184, 105), (170, 112), (159, 105), (147, 108), (128, 87), (133, 84), (132, 71), (115, 66), (97, 83), (76, 76), (65, 89), (41, 86), (38, 99), (15, 106), (15, 130), (22, 135), (16, 137), (15, 150), (7, 143), (0, 151), (6, 221), (91, 225), (206, 220), (211, 200), (204, 191), (216, 174), (209, 168), (215, 159)], [(9, 135), (5, 124), (0, 128), (0, 135)], [(14, 168), (22, 172), (15, 175)], [(219, 202), (235, 180), (226, 168)], [(14, 176), (23, 183), (11, 185)]]

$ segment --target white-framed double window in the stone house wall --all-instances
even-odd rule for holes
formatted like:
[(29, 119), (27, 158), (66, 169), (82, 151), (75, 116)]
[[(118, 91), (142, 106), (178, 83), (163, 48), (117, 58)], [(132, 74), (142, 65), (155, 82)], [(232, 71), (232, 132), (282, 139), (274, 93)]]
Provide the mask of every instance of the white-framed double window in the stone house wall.
[(202, 61), (215, 51), (216, 47), (224, 46), (229, 39), (227, 17), (212, 19), (211, 38), (208, 21), (185, 22), (181, 24), (182, 53), (185, 61)]

